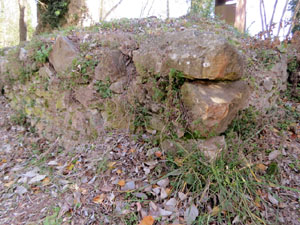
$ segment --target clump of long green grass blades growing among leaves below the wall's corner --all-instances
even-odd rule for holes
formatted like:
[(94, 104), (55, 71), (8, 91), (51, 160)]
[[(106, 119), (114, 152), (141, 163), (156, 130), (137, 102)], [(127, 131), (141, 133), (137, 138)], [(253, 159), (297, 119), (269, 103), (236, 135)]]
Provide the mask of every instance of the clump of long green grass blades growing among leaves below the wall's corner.
[[(181, 148), (167, 156), (167, 166), (171, 171), (178, 171), (179, 175), (171, 177), (176, 191), (194, 193), (196, 201), (209, 206), (202, 208), (197, 224), (208, 224), (211, 218), (231, 224), (237, 216), (244, 223), (262, 221), (259, 212), (253, 210), (255, 200), (259, 199), (256, 193), (259, 185), (252, 169), (239, 159), (238, 149), (224, 152), (214, 163), (207, 163), (198, 149), (187, 152)], [(209, 208), (216, 212), (210, 212)]]

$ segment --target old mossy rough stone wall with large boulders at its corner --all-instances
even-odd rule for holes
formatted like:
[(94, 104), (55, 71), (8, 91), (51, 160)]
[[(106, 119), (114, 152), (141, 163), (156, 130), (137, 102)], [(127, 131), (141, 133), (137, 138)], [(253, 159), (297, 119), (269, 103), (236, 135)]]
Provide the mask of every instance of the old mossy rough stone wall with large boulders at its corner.
[[(51, 48), (49, 61), (37, 60), (42, 46)], [(270, 106), (273, 97), (263, 95), (285, 87), (282, 64), (247, 78), (240, 50), (221, 35), (192, 28), (147, 36), (80, 33), (43, 39), (42, 46), (6, 53), (1, 85), (39, 134), (61, 137), (66, 147), (110, 129), (163, 139), (220, 135), (239, 110), (257, 101), (265, 108), (262, 99)]]

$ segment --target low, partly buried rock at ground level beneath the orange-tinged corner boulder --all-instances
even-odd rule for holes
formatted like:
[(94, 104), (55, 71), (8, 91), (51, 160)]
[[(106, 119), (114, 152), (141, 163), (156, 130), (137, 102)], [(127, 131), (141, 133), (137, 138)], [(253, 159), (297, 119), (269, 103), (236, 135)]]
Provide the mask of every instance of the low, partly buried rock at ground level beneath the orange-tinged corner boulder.
[(197, 149), (203, 152), (204, 156), (210, 161), (214, 161), (218, 155), (225, 150), (226, 141), (224, 136), (212, 137), (206, 140), (164, 140), (161, 143), (161, 148), (166, 152), (174, 152), (184, 149), (187, 152), (192, 152)]

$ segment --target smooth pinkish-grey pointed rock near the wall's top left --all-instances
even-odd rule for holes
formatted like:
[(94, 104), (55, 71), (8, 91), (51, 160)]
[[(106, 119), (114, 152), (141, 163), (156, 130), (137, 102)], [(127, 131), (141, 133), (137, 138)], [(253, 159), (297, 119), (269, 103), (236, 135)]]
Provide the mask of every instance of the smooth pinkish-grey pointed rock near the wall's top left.
[(63, 73), (72, 66), (78, 55), (78, 50), (68, 38), (58, 36), (50, 52), (49, 61), (56, 72)]

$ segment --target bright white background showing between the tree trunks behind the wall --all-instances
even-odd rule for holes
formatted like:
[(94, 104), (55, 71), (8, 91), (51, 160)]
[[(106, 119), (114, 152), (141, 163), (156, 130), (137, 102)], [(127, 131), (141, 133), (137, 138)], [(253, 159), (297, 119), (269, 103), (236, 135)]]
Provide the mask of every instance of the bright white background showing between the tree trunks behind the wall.
[[(29, 13), (26, 17), (29, 21), (27, 24), (28, 38), (30, 39), (37, 26), (37, 0), (27, 0), (29, 4)], [(107, 1), (108, 8), (119, 0)], [(232, 0), (228, 4), (235, 3)], [(270, 21), (275, 0), (265, 0), (266, 17)], [(93, 20), (86, 21), (83, 26), (90, 26), (100, 18), (100, 0), (86, 0)], [(189, 11), (190, 0), (169, 0), (170, 17), (180, 17), (186, 15)], [(246, 32), (255, 35), (262, 30), (260, 17), (260, 0), (248, 0), (246, 7)], [(277, 8), (274, 15), (274, 23), (278, 24), (284, 9), (285, 1), (278, 0)], [(106, 20), (120, 18), (142, 18), (156, 16), (161, 19), (167, 17), (166, 0), (123, 0), (120, 5), (106, 18)], [(288, 22), (291, 17), (290, 11), (286, 11), (284, 21)], [(0, 47), (15, 45), (18, 39), (18, 0), (0, 0)], [(275, 26), (274, 32), (277, 32), (278, 26)], [(287, 33), (288, 27), (280, 32), (280, 37)]]

